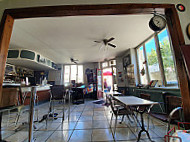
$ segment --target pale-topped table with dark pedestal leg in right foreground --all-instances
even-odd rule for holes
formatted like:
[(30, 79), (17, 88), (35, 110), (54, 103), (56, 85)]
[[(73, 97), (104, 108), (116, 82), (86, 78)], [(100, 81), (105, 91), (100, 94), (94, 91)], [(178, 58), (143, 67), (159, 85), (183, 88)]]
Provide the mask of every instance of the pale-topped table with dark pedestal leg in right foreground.
[[(116, 100), (118, 100), (119, 102), (123, 103), (124, 105), (126, 106), (133, 106), (133, 107), (138, 107), (138, 106), (145, 106), (144, 107), (144, 110), (137, 110), (137, 112), (140, 113), (140, 116), (141, 116), (141, 130), (138, 134), (138, 139), (137, 141), (140, 140), (140, 137), (141, 137), (141, 133), (144, 131), (146, 132), (148, 138), (150, 139), (150, 135), (148, 133), (148, 131), (145, 129), (144, 127), (144, 118), (143, 118), (143, 113), (148, 111), (153, 105), (155, 104), (159, 104), (158, 102), (153, 102), (153, 101), (148, 101), (148, 100), (145, 100), (145, 99), (141, 99), (141, 98), (138, 98), (138, 97), (135, 97), (135, 96), (113, 96)], [(138, 120), (137, 120), (138, 121)], [(140, 122), (138, 121), (138, 123), (140, 124)], [(151, 139), (150, 139), (151, 140)]]

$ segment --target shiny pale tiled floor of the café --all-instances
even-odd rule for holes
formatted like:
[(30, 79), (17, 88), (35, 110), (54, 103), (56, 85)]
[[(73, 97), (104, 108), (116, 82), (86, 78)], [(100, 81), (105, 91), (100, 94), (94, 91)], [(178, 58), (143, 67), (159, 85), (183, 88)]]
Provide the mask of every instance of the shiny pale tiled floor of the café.
[[(38, 106), (40, 119), (48, 112), (48, 105), (49, 103), (44, 103)], [(70, 121), (66, 118), (63, 125), (61, 118), (56, 120), (50, 119), (47, 128), (45, 121), (35, 123), (35, 142), (136, 141), (140, 128), (136, 126), (135, 122), (131, 123), (128, 121), (127, 118), (125, 118), (122, 124), (117, 124), (115, 137), (113, 136), (114, 121), (110, 128), (110, 111), (111, 109), (109, 107), (102, 104), (94, 104), (93, 100), (86, 100), (85, 104), (71, 105)], [(57, 110), (57, 113), (59, 117), (62, 117), (61, 110)], [(22, 123), (28, 120), (28, 113), (22, 113), (16, 127), (13, 123), (15, 116), (16, 113), (12, 112), (9, 122), (7, 122), (7, 115), (3, 116), (2, 137), (10, 142), (27, 142), (28, 129)], [(147, 122), (146, 119), (145, 122)], [(153, 122), (155, 127), (150, 123), (150, 136), (156, 142), (163, 142), (166, 124), (156, 119), (153, 119)], [(18, 131), (15, 132), (15, 129), (18, 127)], [(149, 141), (144, 133), (141, 136), (141, 141)]]

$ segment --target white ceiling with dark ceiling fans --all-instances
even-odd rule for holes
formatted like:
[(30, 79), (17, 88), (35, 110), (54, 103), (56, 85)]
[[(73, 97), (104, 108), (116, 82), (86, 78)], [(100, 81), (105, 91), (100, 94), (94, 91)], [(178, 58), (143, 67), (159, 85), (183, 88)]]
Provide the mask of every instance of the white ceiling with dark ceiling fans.
[[(153, 34), (152, 15), (69, 16), (16, 20), (10, 48), (37, 51), (55, 63), (98, 62), (121, 55)], [(117, 47), (101, 48), (94, 40), (114, 37)]]

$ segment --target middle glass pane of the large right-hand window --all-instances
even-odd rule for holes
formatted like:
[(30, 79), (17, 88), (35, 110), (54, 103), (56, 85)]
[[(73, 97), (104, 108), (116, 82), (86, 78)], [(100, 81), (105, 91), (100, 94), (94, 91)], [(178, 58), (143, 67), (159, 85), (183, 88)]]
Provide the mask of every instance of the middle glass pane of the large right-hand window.
[(145, 43), (150, 80), (162, 82), (154, 38)]

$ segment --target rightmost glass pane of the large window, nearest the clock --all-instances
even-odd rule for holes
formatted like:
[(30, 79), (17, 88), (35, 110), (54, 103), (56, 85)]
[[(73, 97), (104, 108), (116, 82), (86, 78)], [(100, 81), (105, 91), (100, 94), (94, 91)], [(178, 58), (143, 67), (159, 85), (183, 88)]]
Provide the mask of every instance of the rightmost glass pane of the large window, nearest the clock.
[(168, 32), (165, 29), (158, 34), (161, 56), (164, 65), (164, 73), (166, 76), (167, 84), (177, 84), (177, 76), (174, 65), (173, 54), (171, 52), (170, 41), (168, 37)]

